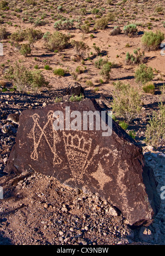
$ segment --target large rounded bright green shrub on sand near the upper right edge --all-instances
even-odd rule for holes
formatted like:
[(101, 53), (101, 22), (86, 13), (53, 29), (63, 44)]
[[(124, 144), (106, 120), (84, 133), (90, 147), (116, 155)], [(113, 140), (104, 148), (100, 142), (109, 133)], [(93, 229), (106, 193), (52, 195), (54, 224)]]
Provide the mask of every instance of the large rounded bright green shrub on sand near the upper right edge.
[(157, 50), (163, 40), (164, 34), (160, 30), (157, 30), (156, 33), (146, 31), (141, 38), (141, 44), (148, 51)]

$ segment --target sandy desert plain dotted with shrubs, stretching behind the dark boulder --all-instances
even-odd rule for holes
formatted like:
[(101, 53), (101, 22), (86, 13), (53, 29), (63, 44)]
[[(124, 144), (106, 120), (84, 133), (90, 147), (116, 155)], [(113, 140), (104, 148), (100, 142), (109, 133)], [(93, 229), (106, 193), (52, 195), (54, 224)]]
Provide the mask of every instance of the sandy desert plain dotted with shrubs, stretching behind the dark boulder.
[(1, 0), (1, 79), (31, 93), (77, 81), (131, 129), (143, 105), (164, 104), (164, 31), (162, 1)]

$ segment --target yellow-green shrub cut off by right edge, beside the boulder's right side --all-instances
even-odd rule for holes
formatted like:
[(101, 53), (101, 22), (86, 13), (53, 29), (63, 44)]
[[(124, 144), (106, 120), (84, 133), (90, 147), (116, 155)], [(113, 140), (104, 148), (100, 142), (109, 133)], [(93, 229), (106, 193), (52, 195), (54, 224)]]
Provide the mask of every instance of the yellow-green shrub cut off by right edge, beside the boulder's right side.
[(147, 145), (157, 147), (165, 142), (165, 105), (161, 102), (158, 111), (153, 111), (145, 131)]

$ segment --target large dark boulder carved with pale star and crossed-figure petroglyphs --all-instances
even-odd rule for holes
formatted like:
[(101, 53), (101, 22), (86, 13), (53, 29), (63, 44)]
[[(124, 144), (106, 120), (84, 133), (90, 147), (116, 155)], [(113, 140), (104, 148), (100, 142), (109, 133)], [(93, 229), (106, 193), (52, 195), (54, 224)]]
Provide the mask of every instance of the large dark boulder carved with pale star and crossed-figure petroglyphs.
[[(150, 225), (159, 210), (160, 198), (141, 147), (113, 120), (111, 136), (102, 136), (102, 130), (96, 130), (95, 125), (94, 130), (69, 130), (68, 126), (54, 130), (54, 121), (61, 113), (66, 121), (66, 106), (70, 113), (76, 110), (81, 116), (83, 111), (97, 110), (101, 120), (101, 109), (90, 99), (23, 111), (4, 172), (35, 170), (52, 175), (72, 188), (102, 196), (122, 212), (129, 225)], [(74, 118), (70, 115), (70, 124)]]

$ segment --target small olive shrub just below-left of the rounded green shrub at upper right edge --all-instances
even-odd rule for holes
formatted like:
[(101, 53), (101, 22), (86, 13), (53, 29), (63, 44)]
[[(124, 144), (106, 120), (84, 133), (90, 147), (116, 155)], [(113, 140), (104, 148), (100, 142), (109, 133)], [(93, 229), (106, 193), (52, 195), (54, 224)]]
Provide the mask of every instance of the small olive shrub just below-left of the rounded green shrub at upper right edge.
[(134, 54), (130, 54), (127, 52), (125, 62), (126, 64), (129, 65), (136, 65), (136, 64), (141, 64), (144, 62), (144, 51), (141, 52), (140, 49), (134, 50)]

